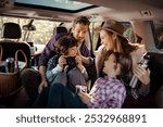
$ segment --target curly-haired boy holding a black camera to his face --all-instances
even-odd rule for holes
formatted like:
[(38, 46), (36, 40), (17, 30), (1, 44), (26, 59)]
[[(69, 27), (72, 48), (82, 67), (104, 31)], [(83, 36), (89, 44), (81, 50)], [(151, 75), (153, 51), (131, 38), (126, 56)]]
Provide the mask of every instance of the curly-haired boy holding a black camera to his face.
[(86, 86), (88, 74), (78, 55), (77, 40), (72, 36), (62, 37), (58, 40), (57, 53), (48, 62), (46, 73), (48, 82), (50, 85), (54, 82), (67, 84), (72, 91), (74, 91), (75, 85)]

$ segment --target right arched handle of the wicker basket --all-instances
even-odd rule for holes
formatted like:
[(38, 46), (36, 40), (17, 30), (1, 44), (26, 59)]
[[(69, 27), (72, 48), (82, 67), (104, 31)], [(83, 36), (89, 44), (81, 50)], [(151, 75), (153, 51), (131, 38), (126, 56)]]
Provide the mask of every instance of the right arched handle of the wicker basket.
[[(25, 66), (24, 66), (23, 68), (27, 67), (27, 58), (26, 58), (26, 54), (24, 53), (23, 50), (17, 50), (17, 51), (15, 52), (15, 64), (16, 64), (18, 71), (20, 71), (18, 60), (17, 60), (18, 52), (21, 52), (21, 53), (23, 54), (24, 59), (25, 59)], [(23, 69), (23, 68), (22, 68), (22, 69)]]

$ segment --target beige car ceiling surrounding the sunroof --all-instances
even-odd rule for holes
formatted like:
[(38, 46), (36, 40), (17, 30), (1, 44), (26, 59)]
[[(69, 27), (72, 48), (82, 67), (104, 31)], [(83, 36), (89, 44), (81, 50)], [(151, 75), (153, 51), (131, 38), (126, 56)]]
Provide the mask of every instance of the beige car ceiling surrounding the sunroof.
[[(0, 5), (0, 15), (12, 15), (54, 21), (72, 21), (74, 17), (79, 15), (87, 15), (91, 17), (92, 21), (100, 17), (115, 18), (121, 21), (163, 20), (162, 0), (76, 0), (77, 2), (86, 3), (88, 5), (75, 11), (65, 10), (59, 7), (52, 8), (47, 5), (38, 5), (38, 0), (28, 0), (33, 1), (33, 4), (23, 4), (20, 2), (24, 0), (5, 1), (8, 2), (5, 4), (3, 3), (4, 5)], [(71, 0), (55, 1), (66, 2)]]

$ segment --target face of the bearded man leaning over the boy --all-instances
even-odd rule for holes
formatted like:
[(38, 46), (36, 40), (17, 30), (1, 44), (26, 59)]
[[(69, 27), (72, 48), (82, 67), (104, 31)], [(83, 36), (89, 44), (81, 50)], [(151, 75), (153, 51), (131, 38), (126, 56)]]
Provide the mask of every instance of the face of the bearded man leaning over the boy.
[(75, 24), (75, 26), (72, 28), (74, 38), (77, 39), (80, 43), (86, 39), (87, 33), (88, 25)]

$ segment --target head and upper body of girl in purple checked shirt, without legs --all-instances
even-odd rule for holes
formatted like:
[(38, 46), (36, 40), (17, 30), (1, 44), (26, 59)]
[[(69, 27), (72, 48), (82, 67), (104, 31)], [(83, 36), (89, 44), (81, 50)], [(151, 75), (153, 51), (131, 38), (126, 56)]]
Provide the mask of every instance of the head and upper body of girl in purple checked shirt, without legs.
[(126, 90), (121, 77), (129, 76), (131, 60), (129, 55), (113, 52), (106, 54), (103, 73), (104, 78), (98, 78), (88, 93), (80, 92), (79, 97), (88, 107), (122, 107)]

